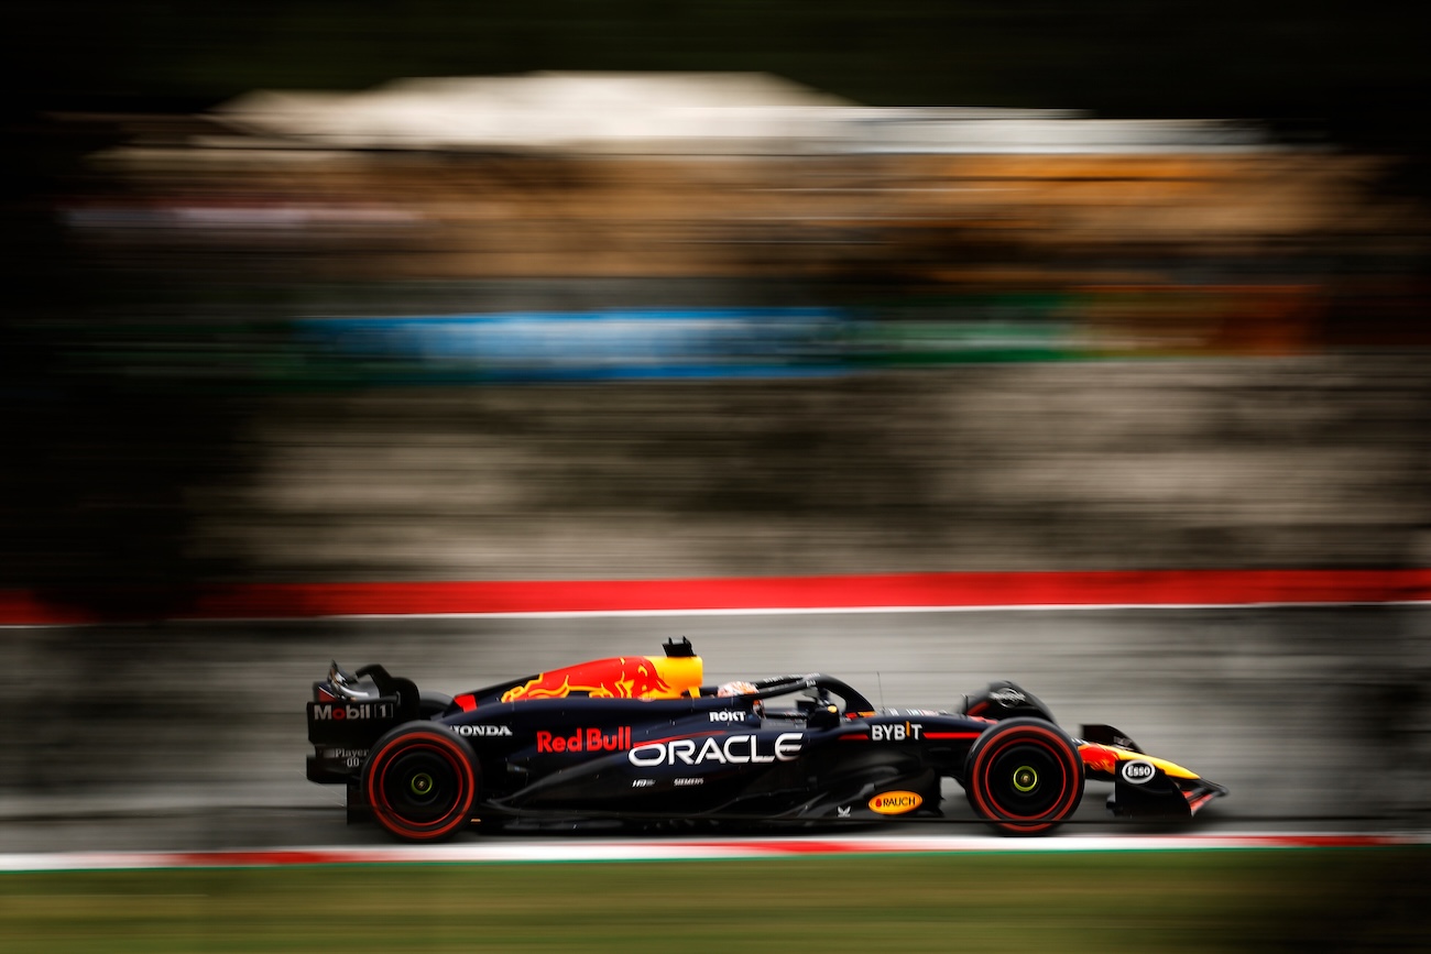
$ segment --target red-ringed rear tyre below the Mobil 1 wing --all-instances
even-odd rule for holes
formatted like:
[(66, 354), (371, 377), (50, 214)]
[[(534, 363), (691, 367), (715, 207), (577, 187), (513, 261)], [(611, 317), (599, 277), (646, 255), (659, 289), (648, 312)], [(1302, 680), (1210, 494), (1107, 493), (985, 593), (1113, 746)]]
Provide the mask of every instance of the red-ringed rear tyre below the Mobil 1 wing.
[(462, 831), (477, 787), (472, 747), (431, 722), (408, 722), (379, 738), (362, 772), (373, 821), (404, 841), (441, 841)]

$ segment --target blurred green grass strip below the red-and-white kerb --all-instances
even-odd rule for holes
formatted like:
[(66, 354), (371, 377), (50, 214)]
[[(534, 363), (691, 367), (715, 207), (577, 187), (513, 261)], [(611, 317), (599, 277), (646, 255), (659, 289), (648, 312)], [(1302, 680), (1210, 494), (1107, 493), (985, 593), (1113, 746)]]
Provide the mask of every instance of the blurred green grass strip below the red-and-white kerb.
[(0, 950), (1424, 950), (1431, 848), (0, 877)]

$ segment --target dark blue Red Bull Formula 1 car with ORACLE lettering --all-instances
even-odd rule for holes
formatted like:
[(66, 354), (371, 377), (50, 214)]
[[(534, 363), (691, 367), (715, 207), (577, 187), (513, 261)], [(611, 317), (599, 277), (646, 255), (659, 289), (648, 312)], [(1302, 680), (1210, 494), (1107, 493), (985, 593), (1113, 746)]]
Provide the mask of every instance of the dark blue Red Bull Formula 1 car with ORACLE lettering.
[(455, 698), (335, 662), (308, 704), (308, 778), (406, 841), (477, 822), (841, 822), (942, 817), (942, 780), (1003, 834), (1068, 820), (1085, 780), (1119, 817), (1191, 818), (1226, 790), (1109, 725), (1078, 738), (1012, 682), (957, 712), (877, 709), (829, 675), (701, 685), (690, 641)]

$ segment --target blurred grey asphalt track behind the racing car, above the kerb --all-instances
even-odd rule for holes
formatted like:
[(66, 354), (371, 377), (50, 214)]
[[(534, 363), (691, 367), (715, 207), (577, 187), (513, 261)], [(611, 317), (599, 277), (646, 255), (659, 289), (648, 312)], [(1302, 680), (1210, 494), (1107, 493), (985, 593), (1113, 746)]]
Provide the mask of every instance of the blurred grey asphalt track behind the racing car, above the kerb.
[[(331, 659), (458, 692), (671, 636), (707, 682), (823, 671), (883, 705), (953, 708), (1012, 678), (1075, 732), (1113, 724), (1228, 785), (1203, 834), (1424, 831), (1428, 622), (1422, 605), (1348, 605), (10, 628), (0, 852), (386, 844), (303, 778), (303, 702)], [(1146, 834), (1103, 797), (1090, 785), (1060, 837)], [(983, 832), (957, 787), (944, 808), (910, 832)]]

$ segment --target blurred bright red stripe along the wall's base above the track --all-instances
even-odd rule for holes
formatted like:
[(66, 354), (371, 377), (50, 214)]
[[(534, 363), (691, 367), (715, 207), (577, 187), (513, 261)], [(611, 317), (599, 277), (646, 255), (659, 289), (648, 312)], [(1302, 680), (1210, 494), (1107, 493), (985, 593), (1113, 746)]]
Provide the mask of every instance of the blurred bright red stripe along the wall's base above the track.
[[(255, 584), (202, 591), (186, 619), (700, 614), (1015, 606), (1232, 606), (1431, 601), (1431, 569), (886, 574), (547, 582)], [(103, 618), (0, 592), (0, 625)], [(643, 657), (644, 658), (644, 657)]]

